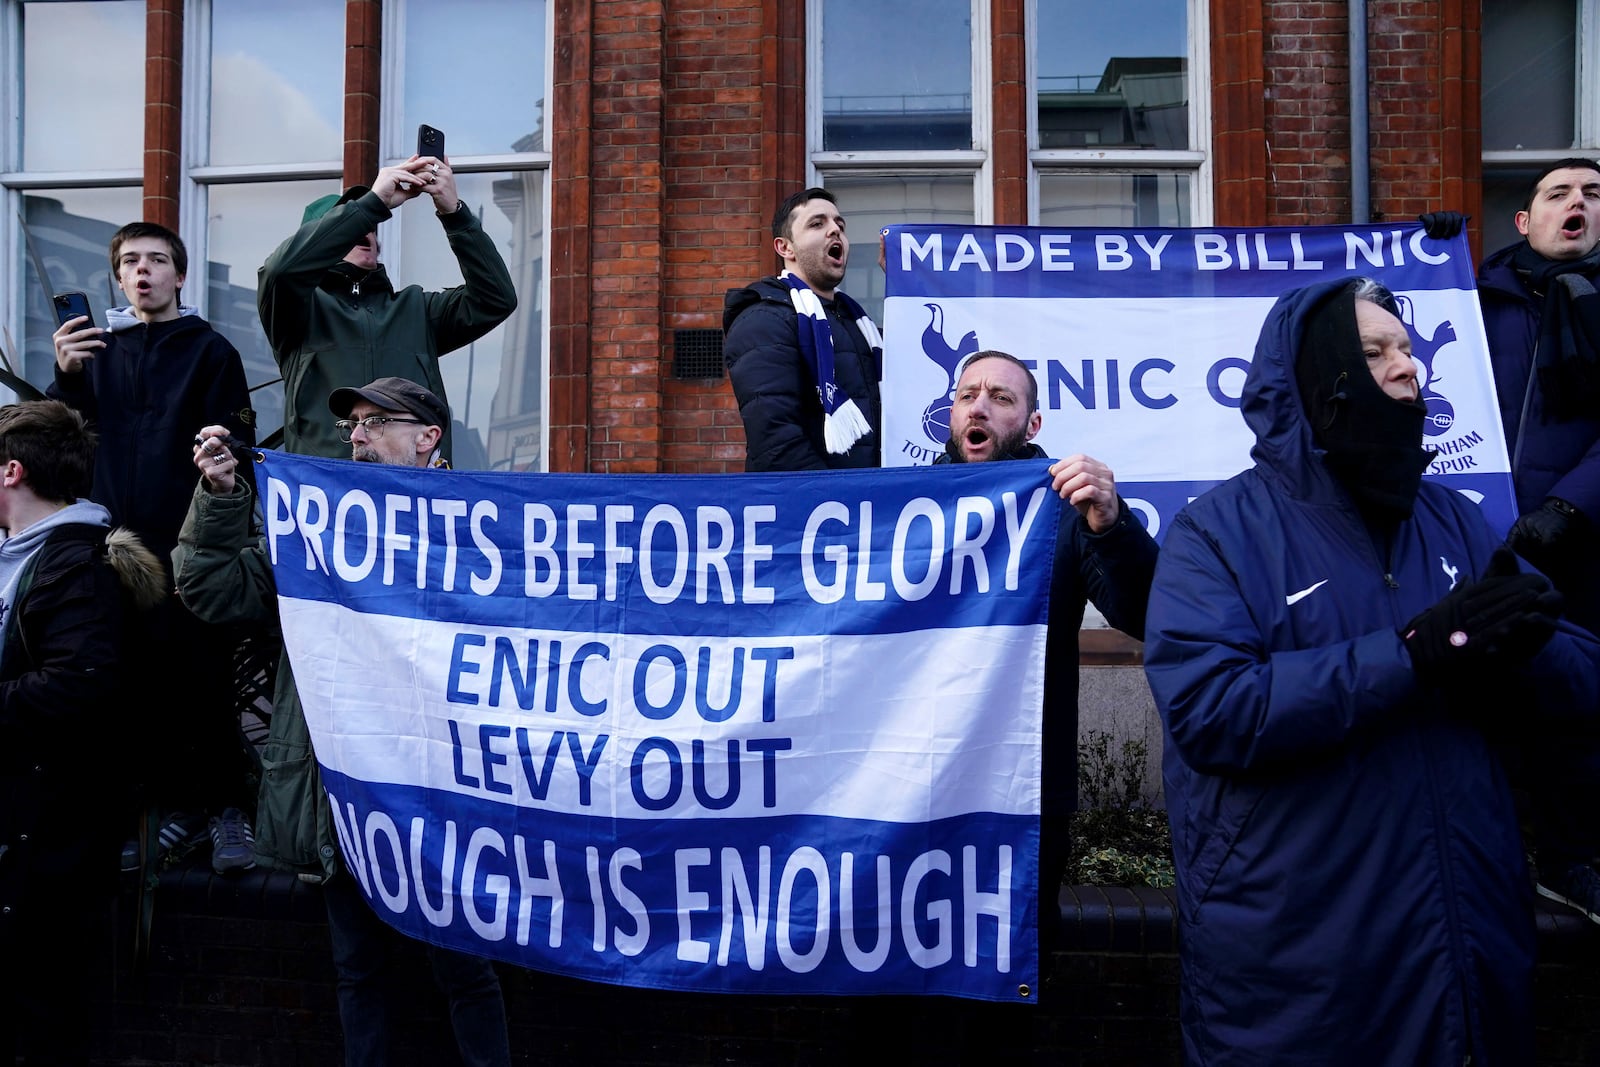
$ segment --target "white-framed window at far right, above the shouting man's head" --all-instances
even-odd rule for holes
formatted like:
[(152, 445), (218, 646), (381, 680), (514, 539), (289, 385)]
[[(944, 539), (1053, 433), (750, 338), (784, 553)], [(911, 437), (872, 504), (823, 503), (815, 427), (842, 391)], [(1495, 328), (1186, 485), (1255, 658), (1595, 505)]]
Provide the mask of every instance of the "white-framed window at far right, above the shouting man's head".
[(1600, 0), (1483, 0), (1483, 251), (1522, 240), (1534, 176), (1600, 158)]

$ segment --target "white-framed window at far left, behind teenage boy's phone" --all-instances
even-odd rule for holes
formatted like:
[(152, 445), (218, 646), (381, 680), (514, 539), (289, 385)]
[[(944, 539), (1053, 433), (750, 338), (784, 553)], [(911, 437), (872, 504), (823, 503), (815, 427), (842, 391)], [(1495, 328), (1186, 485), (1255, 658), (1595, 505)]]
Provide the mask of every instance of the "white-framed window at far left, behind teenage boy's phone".
[(125, 302), (109, 245), (141, 216), (144, 22), (144, 0), (0, 0), (0, 341), (40, 389), (50, 293), (82, 290), (101, 322)]

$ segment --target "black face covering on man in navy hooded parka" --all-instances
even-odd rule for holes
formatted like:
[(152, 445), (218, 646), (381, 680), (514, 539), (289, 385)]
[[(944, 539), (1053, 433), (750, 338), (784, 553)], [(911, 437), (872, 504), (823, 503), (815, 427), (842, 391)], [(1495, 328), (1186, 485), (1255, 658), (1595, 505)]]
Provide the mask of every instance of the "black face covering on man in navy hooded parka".
[(1422, 448), (1427, 405), (1421, 397), (1395, 400), (1373, 379), (1355, 328), (1355, 294), (1341, 291), (1307, 317), (1294, 381), (1328, 470), (1362, 514), (1410, 518), (1434, 461)]

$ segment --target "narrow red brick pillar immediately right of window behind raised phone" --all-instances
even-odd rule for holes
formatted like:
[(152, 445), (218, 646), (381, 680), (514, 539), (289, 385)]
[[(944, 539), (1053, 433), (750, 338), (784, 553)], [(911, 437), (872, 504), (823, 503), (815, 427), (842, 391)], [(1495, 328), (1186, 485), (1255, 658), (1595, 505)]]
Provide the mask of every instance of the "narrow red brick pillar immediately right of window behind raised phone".
[(592, 0), (555, 0), (550, 154), (550, 470), (589, 469)]

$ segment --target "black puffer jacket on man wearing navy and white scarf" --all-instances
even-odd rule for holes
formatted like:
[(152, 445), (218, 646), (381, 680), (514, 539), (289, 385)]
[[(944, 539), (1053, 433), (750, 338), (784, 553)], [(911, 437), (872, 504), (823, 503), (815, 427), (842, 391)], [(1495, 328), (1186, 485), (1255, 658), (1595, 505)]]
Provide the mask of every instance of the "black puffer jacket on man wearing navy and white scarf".
[(834, 381), (843, 389), (872, 432), (850, 451), (832, 454), (822, 443), (822, 400), (811, 370), (800, 355), (800, 334), (789, 286), (762, 278), (728, 290), (722, 312), (726, 333), (723, 360), (744, 419), (746, 470), (826, 470), (878, 467), (883, 446), (883, 408), (878, 400), (878, 358), (861, 328), (822, 301), (834, 326)]

